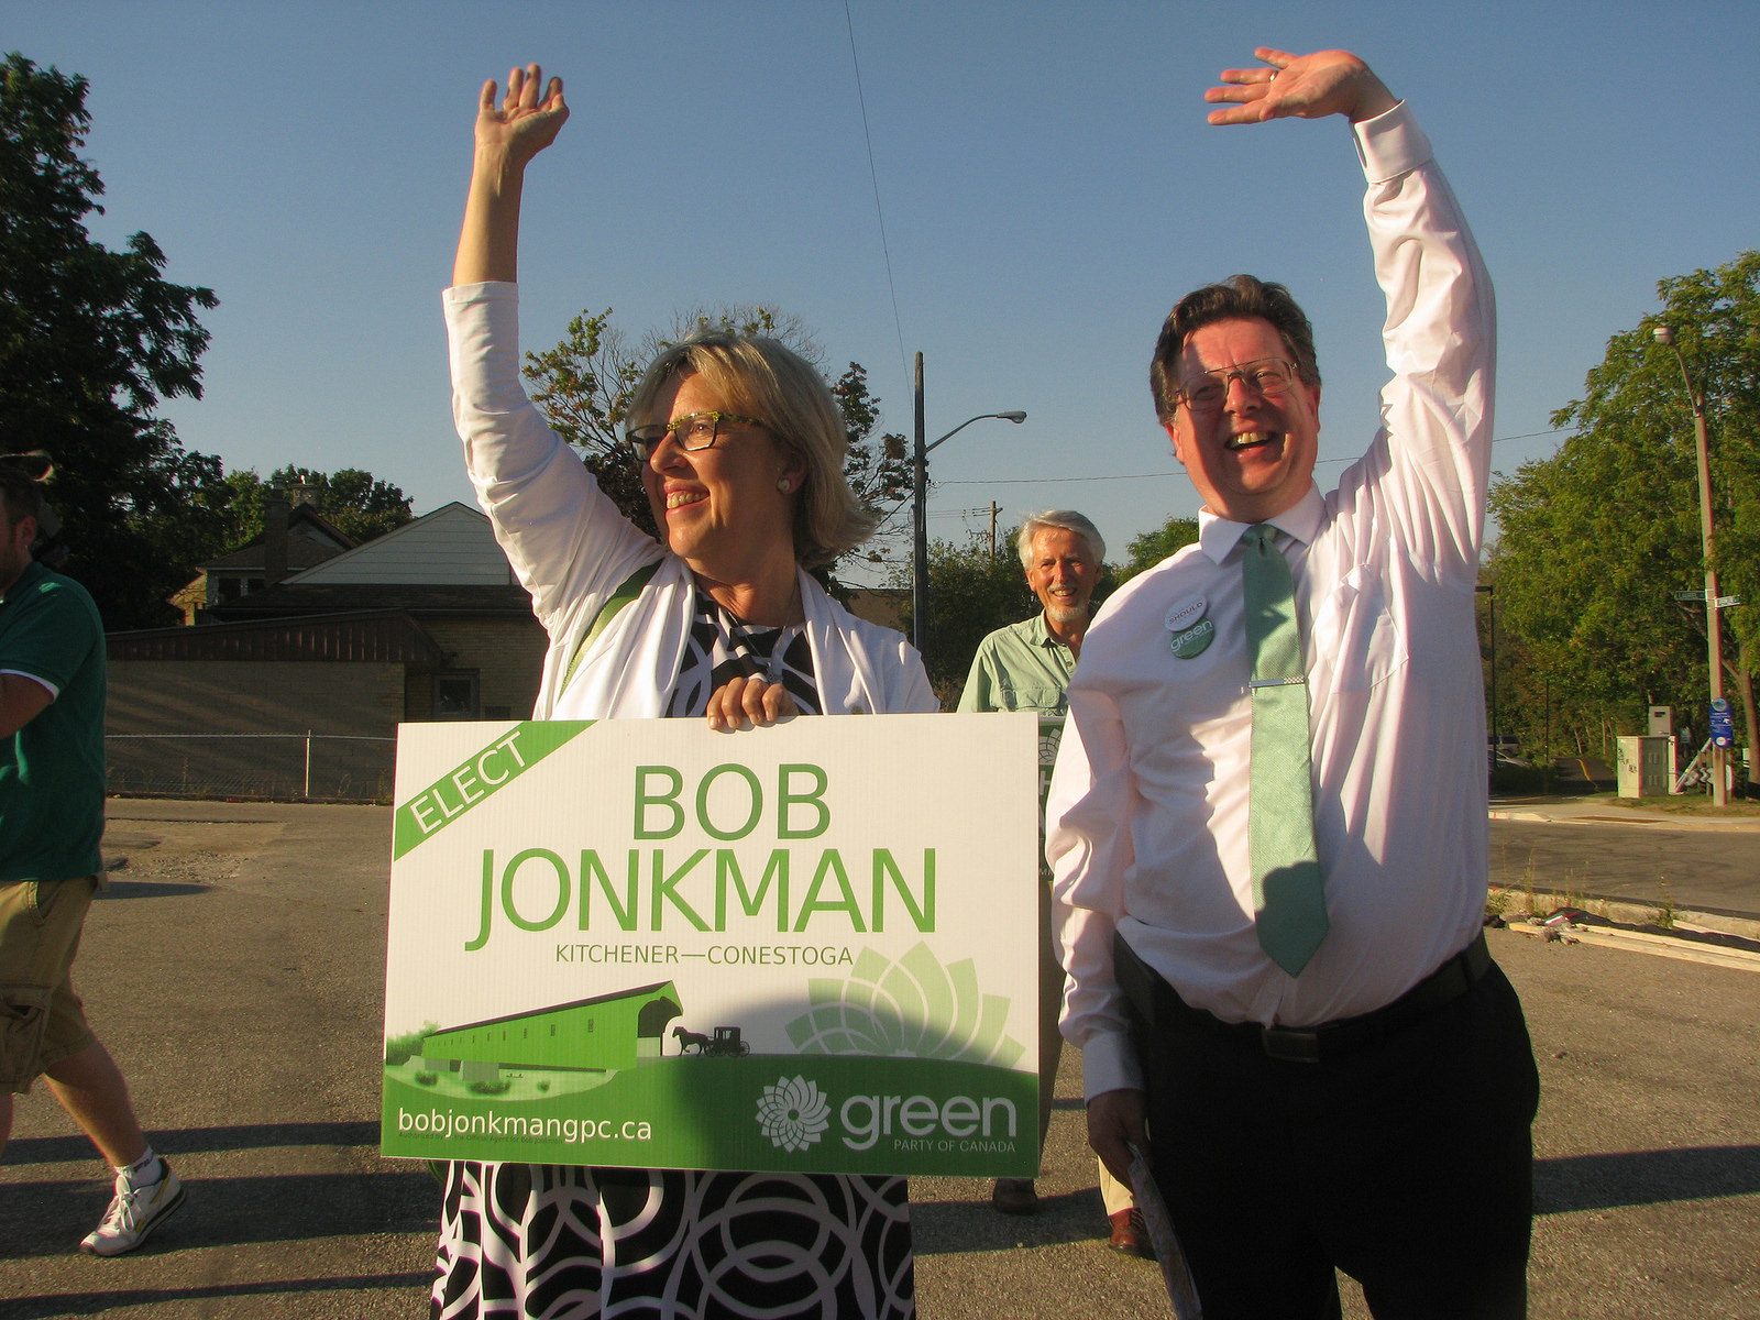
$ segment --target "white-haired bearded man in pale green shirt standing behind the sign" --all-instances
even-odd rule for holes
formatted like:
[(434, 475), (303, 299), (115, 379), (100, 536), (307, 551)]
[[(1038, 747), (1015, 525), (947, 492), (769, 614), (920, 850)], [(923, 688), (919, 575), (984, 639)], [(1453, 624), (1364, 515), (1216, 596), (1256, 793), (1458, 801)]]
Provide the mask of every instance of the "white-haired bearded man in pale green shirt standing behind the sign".
[[(998, 628), (972, 658), (966, 690), (959, 697), (961, 713), (1037, 711), (1038, 713), (1038, 801), (1045, 803), (1051, 766), (1058, 759), (1065, 690), (1075, 660), (1082, 653), (1088, 620), (1093, 618), (1093, 593), (1105, 563), (1100, 530), (1074, 509), (1033, 514), (1017, 537), (1021, 567), (1028, 586), (1044, 609), (1030, 620)], [(1040, 878), (1049, 873), (1040, 866)], [(1040, 885), (1040, 977), (1038, 977), (1038, 1148), (1045, 1148), (1051, 1125), (1051, 1100), (1058, 1077), (1063, 1037), (1058, 1012), (1063, 1007), (1063, 968), (1051, 947), (1051, 889)], [(1100, 1165), (1100, 1195), (1111, 1221), (1112, 1248), (1126, 1255), (1146, 1253), (1142, 1218), (1121, 1184)], [(1030, 1177), (1000, 1177), (991, 1204), (1005, 1214), (1033, 1214), (1038, 1193)]]

